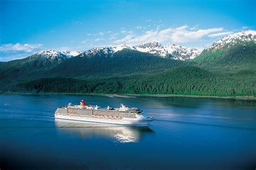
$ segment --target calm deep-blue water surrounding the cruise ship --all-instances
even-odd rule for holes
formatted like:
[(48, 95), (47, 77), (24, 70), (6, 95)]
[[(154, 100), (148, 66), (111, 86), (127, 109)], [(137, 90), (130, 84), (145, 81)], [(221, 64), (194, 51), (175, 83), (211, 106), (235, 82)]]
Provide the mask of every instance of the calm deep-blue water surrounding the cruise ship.
[[(84, 99), (125, 103), (149, 127), (57, 121)], [(0, 95), (1, 169), (255, 169), (256, 102), (178, 97)]]

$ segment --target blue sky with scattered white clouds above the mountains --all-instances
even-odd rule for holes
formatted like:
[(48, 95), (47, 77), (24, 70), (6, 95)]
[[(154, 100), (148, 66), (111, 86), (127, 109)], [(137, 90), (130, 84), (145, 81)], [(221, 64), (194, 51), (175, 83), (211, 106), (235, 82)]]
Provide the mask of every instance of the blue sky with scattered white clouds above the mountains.
[(1, 0), (0, 61), (157, 41), (205, 48), (255, 30), (256, 1)]

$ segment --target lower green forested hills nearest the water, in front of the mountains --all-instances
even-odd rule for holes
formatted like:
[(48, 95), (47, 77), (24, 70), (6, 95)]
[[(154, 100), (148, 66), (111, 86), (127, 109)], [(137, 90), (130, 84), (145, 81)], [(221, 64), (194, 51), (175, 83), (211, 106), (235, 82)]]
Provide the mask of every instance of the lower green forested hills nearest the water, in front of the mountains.
[(129, 78), (44, 78), (18, 84), (12, 91), (27, 93), (176, 94), (208, 96), (255, 96), (255, 79), (208, 72), (194, 66), (174, 68), (161, 74)]

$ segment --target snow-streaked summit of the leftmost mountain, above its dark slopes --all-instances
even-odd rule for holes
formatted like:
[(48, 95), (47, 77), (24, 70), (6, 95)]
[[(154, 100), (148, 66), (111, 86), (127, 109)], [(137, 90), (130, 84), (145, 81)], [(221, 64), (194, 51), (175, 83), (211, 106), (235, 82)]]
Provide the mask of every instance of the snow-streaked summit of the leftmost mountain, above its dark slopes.
[(69, 59), (73, 56), (77, 56), (79, 55), (80, 52), (74, 52), (74, 51), (54, 51), (52, 49), (48, 49), (48, 50), (45, 50), (45, 51), (41, 51), (41, 52), (38, 52), (32, 56), (30, 56), (30, 58), (35, 58), (35, 57), (41, 57), (41, 58), (46, 58), (46, 59), (50, 59), (50, 60), (53, 60), (53, 59)]

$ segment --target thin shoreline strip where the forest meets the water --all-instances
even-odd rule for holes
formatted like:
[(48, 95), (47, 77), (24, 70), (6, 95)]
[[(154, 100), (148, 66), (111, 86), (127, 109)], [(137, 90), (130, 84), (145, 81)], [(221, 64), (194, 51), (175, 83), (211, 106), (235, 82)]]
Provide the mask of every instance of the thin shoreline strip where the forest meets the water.
[(106, 97), (121, 97), (121, 98), (132, 98), (132, 97), (188, 97), (188, 98), (220, 98), (220, 99), (234, 99), (234, 100), (256, 100), (254, 96), (198, 96), (198, 95), (164, 95), (164, 94), (84, 94), (84, 93), (14, 93), (6, 92), (0, 93), (0, 95), (91, 95), (91, 96), (106, 96)]

